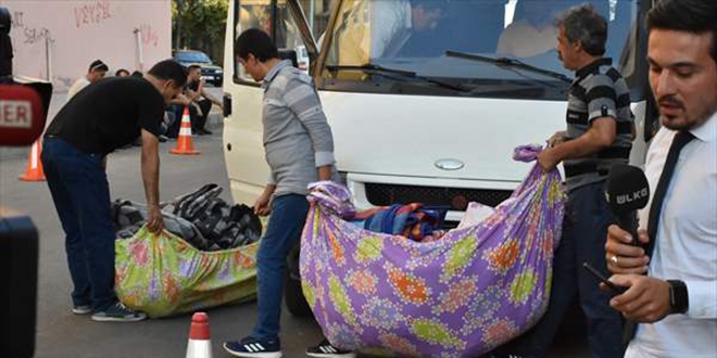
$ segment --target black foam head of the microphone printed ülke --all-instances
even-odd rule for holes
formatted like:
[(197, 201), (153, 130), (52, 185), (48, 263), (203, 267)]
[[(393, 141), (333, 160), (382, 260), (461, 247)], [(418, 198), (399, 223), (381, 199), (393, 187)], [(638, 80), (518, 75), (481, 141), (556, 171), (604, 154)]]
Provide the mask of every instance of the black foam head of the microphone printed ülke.
[(605, 196), (615, 214), (641, 209), (650, 200), (647, 178), (638, 167), (616, 164), (609, 169)]

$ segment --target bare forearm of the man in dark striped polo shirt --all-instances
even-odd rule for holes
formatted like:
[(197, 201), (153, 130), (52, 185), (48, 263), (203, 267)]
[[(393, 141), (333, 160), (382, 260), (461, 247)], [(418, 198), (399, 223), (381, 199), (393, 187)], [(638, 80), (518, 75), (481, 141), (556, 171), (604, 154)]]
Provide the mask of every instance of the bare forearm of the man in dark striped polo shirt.
[(545, 171), (555, 168), (565, 159), (576, 159), (609, 148), (615, 141), (616, 124), (613, 117), (593, 119), (590, 129), (582, 136), (556, 144), (538, 154), (538, 163)]

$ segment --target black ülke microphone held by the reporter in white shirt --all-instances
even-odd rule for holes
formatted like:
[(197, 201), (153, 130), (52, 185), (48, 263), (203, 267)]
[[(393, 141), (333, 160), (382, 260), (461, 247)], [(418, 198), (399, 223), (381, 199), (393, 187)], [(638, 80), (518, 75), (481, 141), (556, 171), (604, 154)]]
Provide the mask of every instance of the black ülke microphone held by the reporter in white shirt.
[(647, 206), (650, 200), (650, 184), (642, 169), (626, 164), (611, 167), (605, 197), (620, 229), (632, 235), (633, 245), (639, 245), (636, 212)]

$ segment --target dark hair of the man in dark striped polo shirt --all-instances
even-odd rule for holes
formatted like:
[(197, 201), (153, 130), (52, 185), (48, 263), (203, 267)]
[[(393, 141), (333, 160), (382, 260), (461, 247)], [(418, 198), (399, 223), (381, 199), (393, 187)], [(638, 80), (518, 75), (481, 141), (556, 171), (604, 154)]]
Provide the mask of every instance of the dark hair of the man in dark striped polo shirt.
[(605, 53), (607, 21), (590, 3), (573, 7), (557, 18), (570, 42), (580, 42), (582, 49), (593, 56)]

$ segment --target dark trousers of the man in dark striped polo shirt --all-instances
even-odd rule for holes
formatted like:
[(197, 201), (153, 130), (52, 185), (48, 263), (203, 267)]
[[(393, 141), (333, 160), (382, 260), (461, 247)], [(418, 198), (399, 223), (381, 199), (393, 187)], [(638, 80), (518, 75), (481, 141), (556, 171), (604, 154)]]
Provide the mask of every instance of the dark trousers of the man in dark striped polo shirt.
[(568, 194), (563, 235), (553, 260), (553, 284), (545, 316), (525, 335), (495, 350), (495, 357), (546, 357), (565, 314), (578, 301), (588, 319), (588, 340), (595, 358), (621, 358), (622, 318), (608, 305), (611, 294), (582, 268), (582, 263), (609, 277), (605, 263), (607, 227), (614, 216), (605, 202), (604, 182)]

